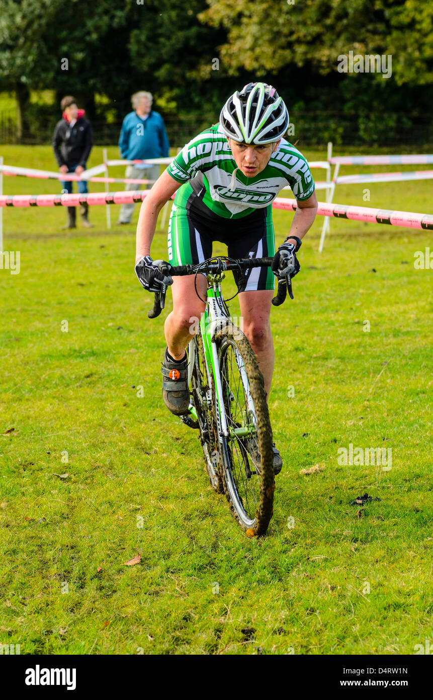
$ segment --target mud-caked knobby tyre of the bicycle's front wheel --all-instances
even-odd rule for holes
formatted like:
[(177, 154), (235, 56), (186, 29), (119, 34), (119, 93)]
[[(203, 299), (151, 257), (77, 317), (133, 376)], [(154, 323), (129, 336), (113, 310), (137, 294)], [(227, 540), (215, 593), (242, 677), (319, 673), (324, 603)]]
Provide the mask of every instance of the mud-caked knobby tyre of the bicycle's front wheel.
[(253, 352), (248, 339), (245, 335), (243, 335), (243, 332), (232, 323), (224, 324), (220, 330), (217, 330), (215, 332), (215, 340), (218, 342), (218, 358), (220, 360), (220, 368), (222, 353), (224, 353), (225, 346), (227, 346), (227, 344), (235, 346), (236, 349), (239, 350), (250, 385), (250, 395), (253, 399), (255, 407), (257, 417), (257, 442), (261, 456), (261, 479), (260, 503), (257, 505), (255, 522), (253, 525), (246, 525), (243, 523), (236, 510), (236, 506), (233, 503), (232, 496), (229, 493), (229, 488), (225, 477), (225, 470), (229, 468), (230, 450), (227, 449), (227, 439), (223, 438), (223, 449), (221, 449), (222, 460), (220, 465), (222, 467), (222, 480), (225, 495), (229, 501), (232, 513), (239, 522), (241, 528), (248, 531), (248, 534), (251, 535), (264, 535), (273, 514), (275, 475), (274, 454), (272, 450), (272, 429), (269, 421), (267, 396), (266, 391), (264, 390), (262, 372), (260, 372), (259, 366), (257, 365), (255, 353)]

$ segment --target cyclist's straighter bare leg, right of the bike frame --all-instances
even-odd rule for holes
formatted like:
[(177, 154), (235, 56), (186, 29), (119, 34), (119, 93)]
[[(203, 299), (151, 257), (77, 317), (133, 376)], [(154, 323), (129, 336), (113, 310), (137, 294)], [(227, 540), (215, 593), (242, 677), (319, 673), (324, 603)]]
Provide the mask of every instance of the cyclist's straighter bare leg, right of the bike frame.
[(269, 289), (239, 294), (243, 332), (253, 348), (263, 374), (264, 388), (269, 397), (274, 372), (274, 339), (271, 334), (271, 300), (274, 291)]

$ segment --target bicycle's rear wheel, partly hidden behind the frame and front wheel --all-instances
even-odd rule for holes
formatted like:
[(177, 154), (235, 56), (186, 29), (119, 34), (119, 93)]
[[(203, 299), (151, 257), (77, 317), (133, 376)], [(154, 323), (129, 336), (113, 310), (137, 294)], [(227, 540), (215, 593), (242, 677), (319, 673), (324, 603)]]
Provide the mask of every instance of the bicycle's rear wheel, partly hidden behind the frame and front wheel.
[[(218, 462), (218, 440), (215, 426), (215, 391), (209, 386), (204, 362), (203, 339), (200, 332), (194, 337), (194, 365), (191, 375), (192, 401), (199, 419), (200, 442), (209, 481), (217, 493), (224, 493)], [(213, 384), (213, 382), (211, 382)]]

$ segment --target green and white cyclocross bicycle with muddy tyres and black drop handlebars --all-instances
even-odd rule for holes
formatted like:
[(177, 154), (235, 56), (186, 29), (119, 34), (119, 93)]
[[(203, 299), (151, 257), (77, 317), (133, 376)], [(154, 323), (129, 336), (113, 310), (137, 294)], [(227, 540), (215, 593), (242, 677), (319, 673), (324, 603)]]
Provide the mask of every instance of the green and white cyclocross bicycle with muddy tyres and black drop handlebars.
[[(248, 339), (232, 322), (221, 282), (227, 270), (268, 267), (272, 260), (218, 256), (198, 265), (177, 267), (159, 262), (164, 274), (194, 274), (194, 288), (200, 299), (197, 275), (206, 274), (207, 295), (206, 300), (201, 299), (206, 301), (206, 309), (187, 353), (189, 414), (180, 418), (190, 428), (199, 429), (211, 485), (217, 493), (225, 493), (234, 517), (248, 536), (264, 535), (272, 517), (272, 429), (262, 373)], [(293, 298), (289, 277), (278, 281), (272, 303), (282, 304), (288, 291)], [(165, 286), (155, 293), (149, 318), (159, 316), (165, 295)]]

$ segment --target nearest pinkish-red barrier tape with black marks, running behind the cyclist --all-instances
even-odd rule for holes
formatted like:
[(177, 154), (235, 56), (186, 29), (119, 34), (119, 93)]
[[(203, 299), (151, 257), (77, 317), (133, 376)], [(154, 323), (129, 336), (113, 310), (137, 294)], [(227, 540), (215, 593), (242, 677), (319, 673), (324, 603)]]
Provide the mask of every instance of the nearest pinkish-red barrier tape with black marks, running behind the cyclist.
[[(83, 202), (90, 206), (95, 204), (132, 204), (141, 202), (148, 192), (95, 192), (89, 195), (2, 195), (0, 207), (78, 207)], [(296, 211), (296, 200), (276, 197), (272, 203), (275, 209)], [(333, 216), (354, 221), (385, 223), (392, 226), (406, 226), (433, 230), (433, 214), (418, 214), (413, 211), (395, 211), (393, 209), (371, 209), (369, 207), (351, 207), (349, 204), (318, 203), (320, 216)]]

